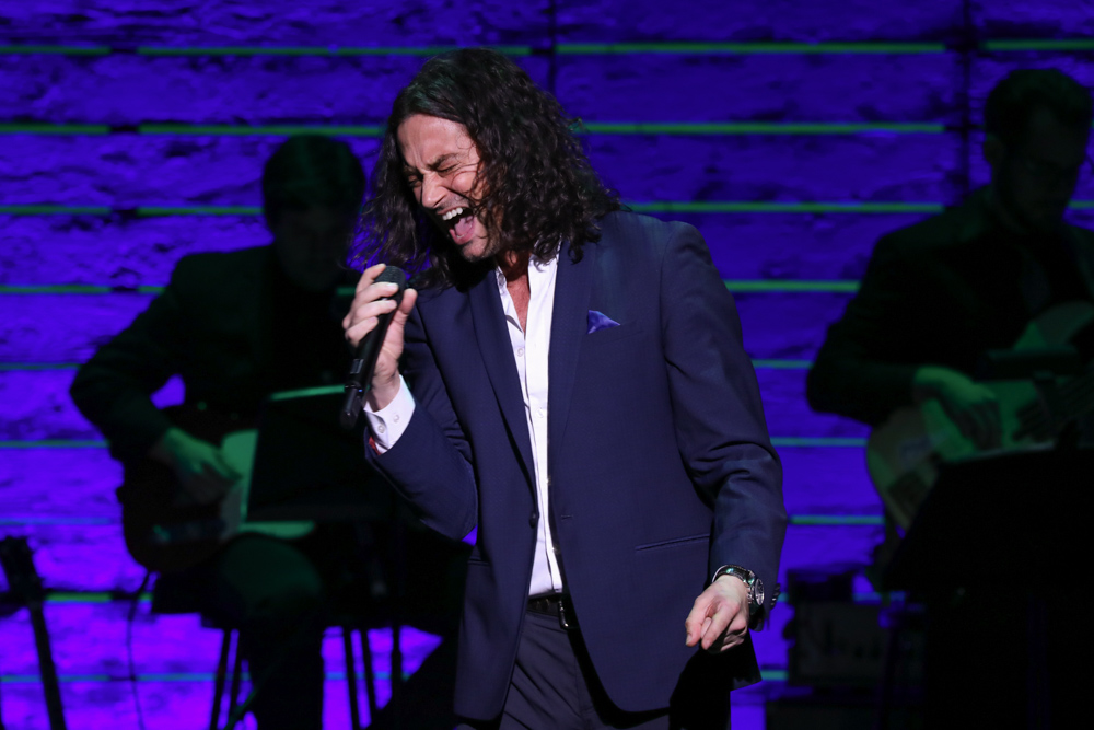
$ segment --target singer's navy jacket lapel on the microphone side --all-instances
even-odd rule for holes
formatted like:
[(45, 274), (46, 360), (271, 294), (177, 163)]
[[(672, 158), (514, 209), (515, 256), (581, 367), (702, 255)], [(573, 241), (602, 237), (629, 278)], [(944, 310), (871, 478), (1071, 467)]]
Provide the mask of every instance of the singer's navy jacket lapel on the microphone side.
[(472, 287), (468, 298), (482, 362), (493, 386), (494, 396), (498, 398), (498, 406), (501, 408), (509, 436), (516, 444), (524, 464), (524, 474), (531, 485), (534, 482), (535, 471), (528, 422), (524, 415), (524, 393), (521, 390), (516, 362), (513, 360), (513, 345), (509, 338), (509, 324), (501, 308), (498, 280), (492, 270)]

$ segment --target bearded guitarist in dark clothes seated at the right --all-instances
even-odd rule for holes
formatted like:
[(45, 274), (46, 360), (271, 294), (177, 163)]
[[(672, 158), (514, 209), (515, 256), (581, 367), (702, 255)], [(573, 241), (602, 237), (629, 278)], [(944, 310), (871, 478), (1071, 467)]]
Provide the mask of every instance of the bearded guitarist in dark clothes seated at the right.
[[(984, 117), (990, 184), (878, 241), (858, 294), (829, 328), (808, 374), (813, 408), (875, 427), (871, 475), (888, 513), (905, 528), (931, 486), (929, 456), (1051, 444), (1066, 421), (1081, 421), (1094, 405), (1075, 391), (1062, 398), (1063, 413), (1047, 413), (1031, 383), (1008, 390), (977, 380), (994, 350), (1071, 345), (1082, 362), (1094, 356), (1086, 334), (1094, 321), (1094, 233), (1064, 222), (1078, 182), (1090, 172), (1090, 92), (1058, 70), (1017, 70), (990, 92)], [(917, 441), (917, 426), (930, 437)], [(1071, 430), (1087, 439), (1085, 429)], [(916, 468), (901, 474), (901, 462)], [(1043, 486), (1031, 485), (1031, 498), (1047, 498)], [(998, 594), (966, 596), (976, 605), (966, 612), (932, 609), (933, 625), (948, 623), (950, 639), (966, 658), (980, 660), (974, 669), (965, 664), (963, 677), (950, 677), (947, 691), (955, 702), (964, 697), (958, 708), (978, 721), (989, 717), (989, 707), (999, 710), (979, 727), (1025, 727), (1021, 705), (1000, 699), (1006, 681), (1000, 672), (1024, 661), (1016, 648), (1025, 637), (1024, 595), (1015, 583)], [(1056, 594), (1049, 600), (1055, 603)], [(958, 663), (956, 653), (948, 657)], [(966, 683), (974, 675), (979, 688)], [(947, 718), (955, 722), (957, 716)]]

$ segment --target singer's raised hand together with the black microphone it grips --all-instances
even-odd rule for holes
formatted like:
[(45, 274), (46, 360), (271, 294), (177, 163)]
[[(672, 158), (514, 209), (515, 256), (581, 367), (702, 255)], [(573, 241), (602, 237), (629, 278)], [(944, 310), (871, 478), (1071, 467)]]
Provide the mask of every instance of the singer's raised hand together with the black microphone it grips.
[(403, 328), (417, 299), (418, 292), (406, 289), (406, 275), (399, 268), (377, 264), (361, 275), (342, 320), (346, 339), (357, 349), (346, 379), (344, 427), (357, 422), (363, 398), (380, 410), (398, 393)]

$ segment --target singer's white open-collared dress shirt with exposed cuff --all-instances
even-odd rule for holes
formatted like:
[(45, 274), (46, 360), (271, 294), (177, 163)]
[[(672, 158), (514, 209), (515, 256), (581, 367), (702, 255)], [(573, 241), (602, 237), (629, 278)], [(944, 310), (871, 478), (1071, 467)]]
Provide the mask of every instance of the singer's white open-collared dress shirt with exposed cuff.
[[(539, 524), (536, 530), (536, 554), (532, 567), (532, 582), (528, 595), (544, 595), (562, 591), (562, 575), (558, 567), (558, 555), (548, 522), (548, 497), (550, 482), (547, 478), (547, 363), (550, 349), (551, 314), (555, 308), (555, 275), (558, 271), (558, 257), (540, 260), (533, 256), (528, 260), (528, 300), (527, 331), (521, 329), (521, 321), (516, 314), (516, 305), (509, 294), (505, 275), (501, 269), (494, 269), (498, 282), (498, 293), (501, 296), (502, 310), (509, 324), (509, 340), (513, 348), (513, 359), (521, 381), (521, 392), (524, 395), (524, 414), (528, 425), (528, 437), (532, 440), (532, 461), (536, 479), (536, 501), (539, 511)], [(372, 431), (376, 451), (384, 453), (398, 441), (410, 416), (414, 414), (415, 401), (406, 382), (399, 383), (399, 392), (386, 408), (373, 412), (364, 408), (369, 427)]]

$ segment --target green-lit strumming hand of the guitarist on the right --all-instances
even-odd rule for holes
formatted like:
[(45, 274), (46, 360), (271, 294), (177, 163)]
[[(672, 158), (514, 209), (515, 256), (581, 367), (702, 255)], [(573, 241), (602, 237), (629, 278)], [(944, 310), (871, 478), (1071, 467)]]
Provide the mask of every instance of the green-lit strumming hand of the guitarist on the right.
[(938, 366), (924, 366), (912, 380), (912, 399), (917, 405), (936, 398), (962, 436), (979, 449), (994, 449), (1002, 442), (1002, 416), (999, 398), (986, 385), (967, 375)]

